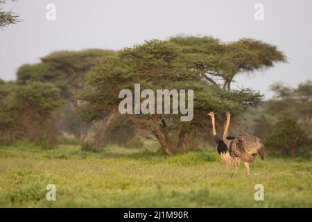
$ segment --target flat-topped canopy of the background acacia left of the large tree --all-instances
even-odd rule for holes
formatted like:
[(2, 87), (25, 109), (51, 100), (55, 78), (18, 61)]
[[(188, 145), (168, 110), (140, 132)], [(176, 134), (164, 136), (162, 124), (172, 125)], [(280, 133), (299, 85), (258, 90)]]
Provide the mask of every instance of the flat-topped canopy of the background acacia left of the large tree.
[(28, 80), (53, 83), (61, 89), (65, 99), (72, 99), (76, 90), (83, 87), (85, 73), (97, 62), (116, 52), (102, 49), (83, 51), (55, 51), (33, 65), (22, 65), (17, 70), (17, 83)]

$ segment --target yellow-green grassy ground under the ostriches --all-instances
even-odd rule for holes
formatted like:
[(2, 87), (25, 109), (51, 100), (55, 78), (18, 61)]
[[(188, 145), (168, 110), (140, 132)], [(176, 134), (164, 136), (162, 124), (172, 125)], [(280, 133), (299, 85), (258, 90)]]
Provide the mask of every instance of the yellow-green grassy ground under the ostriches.
[[(46, 200), (55, 184), (56, 200)], [(254, 185), (264, 201), (254, 200)], [(216, 151), (174, 157), (111, 146), (0, 147), (0, 207), (312, 207), (312, 162), (257, 160), (251, 176), (225, 169)]]

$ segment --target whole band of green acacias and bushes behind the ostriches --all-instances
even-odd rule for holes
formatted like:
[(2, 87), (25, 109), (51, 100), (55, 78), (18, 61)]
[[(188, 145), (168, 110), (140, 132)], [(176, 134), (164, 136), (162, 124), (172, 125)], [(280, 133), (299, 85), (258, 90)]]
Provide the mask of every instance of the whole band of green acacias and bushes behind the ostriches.
[[(239, 74), (250, 75), (276, 62), (286, 62), (286, 57), (271, 44), (252, 39), (224, 43), (207, 36), (178, 35), (120, 51), (57, 51), (37, 64), (19, 67), (16, 81), (1, 81), (0, 139), (6, 144), (19, 139), (56, 144), (58, 135), (68, 133), (80, 143), (92, 140), (103, 147), (125, 146), (140, 135), (155, 137), (162, 150), (173, 155), (187, 146), (209, 144), (207, 112), (216, 112), (222, 130), (226, 111), (239, 125), (247, 110), (263, 104), (259, 92), (232, 89), (231, 83)], [(119, 114), (117, 95), (121, 89), (133, 89), (134, 83), (148, 89), (194, 89), (193, 121), (183, 123), (177, 114)], [(277, 84), (272, 90), (275, 98), (259, 108), (263, 115), (256, 115), (255, 123), (245, 121), (249, 132), (265, 139), (270, 130), (278, 131), (272, 129), (278, 117), (287, 115), (309, 135), (311, 82), (298, 89)]]

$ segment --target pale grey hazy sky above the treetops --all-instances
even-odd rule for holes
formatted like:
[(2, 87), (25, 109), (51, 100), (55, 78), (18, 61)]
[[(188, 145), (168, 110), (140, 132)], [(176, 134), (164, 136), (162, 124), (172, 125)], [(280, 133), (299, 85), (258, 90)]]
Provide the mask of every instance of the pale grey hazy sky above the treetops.
[[(0, 30), (0, 78), (14, 80), (17, 68), (38, 62), (52, 51), (122, 49), (171, 35), (212, 35), (228, 42), (252, 37), (278, 46), (288, 63), (236, 86), (272, 94), (277, 81), (296, 86), (312, 79), (311, 0), (7, 0), (6, 9), (23, 22)], [(56, 6), (56, 21), (46, 19), (46, 5)], [(264, 20), (254, 19), (254, 5), (264, 6)]]

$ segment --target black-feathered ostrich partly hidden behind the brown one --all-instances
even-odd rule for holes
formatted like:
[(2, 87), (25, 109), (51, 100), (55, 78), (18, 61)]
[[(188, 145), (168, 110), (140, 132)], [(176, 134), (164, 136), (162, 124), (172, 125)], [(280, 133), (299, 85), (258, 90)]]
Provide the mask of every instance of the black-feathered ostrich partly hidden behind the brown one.
[[(216, 124), (215, 124), (215, 119), (214, 119), (214, 112), (209, 112), (207, 116), (211, 117), (211, 123), (212, 123), (212, 135), (214, 136), (214, 141), (217, 146), (217, 151), (221, 155), (221, 158), (225, 165), (229, 167), (229, 165), (232, 163), (232, 157), (229, 155), (227, 145), (223, 142), (222, 139), (218, 138), (218, 135), (216, 134)], [(224, 132), (225, 133), (225, 132)], [(224, 134), (223, 133), (223, 134)], [(227, 139), (232, 140), (235, 137), (227, 136)]]

